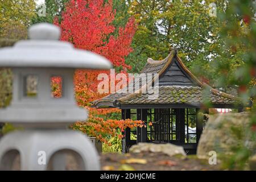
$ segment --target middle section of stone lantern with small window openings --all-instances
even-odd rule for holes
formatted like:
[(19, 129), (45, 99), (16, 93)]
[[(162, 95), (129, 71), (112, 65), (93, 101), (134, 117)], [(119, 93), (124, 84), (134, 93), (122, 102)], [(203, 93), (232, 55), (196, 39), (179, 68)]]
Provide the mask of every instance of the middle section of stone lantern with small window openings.
[[(77, 107), (74, 98), (73, 74), (74, 69), (68, 68), (13, 68), (13, 100), (9, 107), (0, 109), (0, 122), (23, 127), (63, 128), (76, 121), (85, 121), (87, 112)], [(38, 76), (36, 97), (26, 96), (24, 77), (27, 75)], [(52, 75), (63, 79), (61, 98), (51, 96)]]

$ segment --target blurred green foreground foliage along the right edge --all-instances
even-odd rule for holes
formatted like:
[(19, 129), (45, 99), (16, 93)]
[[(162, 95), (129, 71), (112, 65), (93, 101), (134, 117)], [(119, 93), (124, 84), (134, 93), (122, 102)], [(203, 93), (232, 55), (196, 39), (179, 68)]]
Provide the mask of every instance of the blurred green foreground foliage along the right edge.
[[(256, 22), (255, 2), (250, 0), (229, 1), (226, 10), (217, 16), (220, 19), (219, 36), (225, 40), (220, 47), (220, 58), (214, 60), (214, 69), (220, 73), (216, 83), (218, 87), (233, 85), (238, 88), (238, 96), (244, 105), (248, 98), (254, 101), (250, 109), (250, 123), (246, 128), (248, 140), (256, 143)], [(228, 56), (227, 56), (228, 55)], [(239, 62), (238, 62), (239, 61)], [(236, 64), (238, 63), (238, 64)], [(232, 127), (233, 136), (241, 141), (242, 130)], [(248, 142), (237, 142), (230, 148), (232, 154), (223, 156), (223, 165), (229, 169), (247, 169), (251, 156), (256, 155), (256, 147)]]

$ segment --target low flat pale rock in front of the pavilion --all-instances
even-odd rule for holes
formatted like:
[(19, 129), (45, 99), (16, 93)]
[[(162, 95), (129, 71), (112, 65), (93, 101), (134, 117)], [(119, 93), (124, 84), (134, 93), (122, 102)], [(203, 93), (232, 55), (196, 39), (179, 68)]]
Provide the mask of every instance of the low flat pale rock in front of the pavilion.
[(137, 145), (131, 146), (129, 152), (131, 153), (140, 153), (140, 152), (152, 152), (158, 153), (162, 152), (169, 156), (174, 156), (177, 154), (186, 155), (183, 147), (176, 146), (175, 144), (166, 143), (166, 144), (155, 144), (155, 143), (139, 143)]

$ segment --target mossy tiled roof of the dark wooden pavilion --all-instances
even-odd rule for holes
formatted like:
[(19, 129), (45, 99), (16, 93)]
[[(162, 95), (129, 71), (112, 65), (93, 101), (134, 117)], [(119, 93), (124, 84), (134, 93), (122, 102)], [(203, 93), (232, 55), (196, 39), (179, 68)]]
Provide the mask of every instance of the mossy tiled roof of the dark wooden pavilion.
[[(141, 73), (158, 73), (159, 86), (156, 97), (153, 93), (143, 93), (147, 85), (142, 85), (142, 79), (139, 79), (141, 87), (135, 92), (134, 84), (129, 84), (126, 88), (118, 92), (92, 102), (94, 107), (125, 107), (134, 105), (191, 105), (199, 106), (204, 102), (213, 105), (225, 106), (234, 105), (237, 98), (230, 94), (211, 88), (209, 85), (200, 82), (189, 70), (180, 57), (177, 56), (176, 49), (163, 60), (155, 61), (148, 59)], [(146, 74), (145, 74), (146, 75)], [(155, 82), (152, 78), (152, 84)], [(184, 81), (184, 82), (183, 82)], [(207, 88), (207, 89), (205, 89)], [(128, 90), (133, 90), (129, 93)], [(152, 91), (152, 90), (151, 90)]]

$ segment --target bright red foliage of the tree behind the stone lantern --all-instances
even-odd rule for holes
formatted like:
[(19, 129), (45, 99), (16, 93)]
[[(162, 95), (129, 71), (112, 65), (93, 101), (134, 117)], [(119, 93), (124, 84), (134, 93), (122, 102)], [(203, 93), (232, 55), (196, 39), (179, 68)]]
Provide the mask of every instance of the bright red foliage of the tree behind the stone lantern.
[[(114, 67), (122, 67), (124, 72), (130, 69), (125, 64), (125, 56), (133, 49), (131, 41), (135, 34), (134, 18), (130, 18), (125, 27), (119, 27), (118, 36), (113, 36), (115, 17), (112, 0), (71, 0), (65, 5), (61, 15), (61, 40), (74, 44), (76, 48), (86, 49), (108, 58)], [(103, 97), (97, 93), (97, 75), (107, 71), (77, 70), (75, 90), (78, 104), (88, 106), (88, 102)]]

